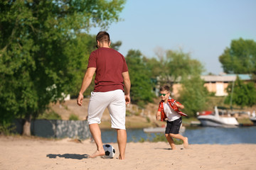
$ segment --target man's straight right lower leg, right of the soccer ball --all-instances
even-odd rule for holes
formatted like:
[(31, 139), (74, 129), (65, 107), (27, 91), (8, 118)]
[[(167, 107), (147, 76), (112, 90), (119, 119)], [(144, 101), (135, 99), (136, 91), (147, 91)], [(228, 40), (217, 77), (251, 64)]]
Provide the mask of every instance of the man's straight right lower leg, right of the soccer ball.
[(119, 148), (119, 159), (125, 159), (125, 148), (127, 145), (126, 130), (117, 129), (117, 144)]

